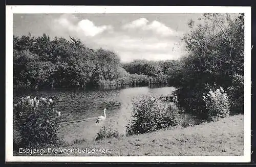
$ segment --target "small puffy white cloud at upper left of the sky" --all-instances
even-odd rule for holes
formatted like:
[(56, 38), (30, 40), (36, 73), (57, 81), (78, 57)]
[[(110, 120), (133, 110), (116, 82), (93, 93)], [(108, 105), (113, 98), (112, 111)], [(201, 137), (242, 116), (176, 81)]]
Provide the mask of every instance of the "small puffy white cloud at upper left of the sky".
[(68, 30), (72, 33), (84, 34), (84, 36), (94, 37), (98, 34), (103, 33), (107, 30), (112, 30), (111, 25), (102, 25), (96, 26), (92, 21), (88, 19), (76, 21), (77, 18), (75, 16), (70, 15), (62, 15), (60, 18), (56, 19), (57, 27), (60, 30)]

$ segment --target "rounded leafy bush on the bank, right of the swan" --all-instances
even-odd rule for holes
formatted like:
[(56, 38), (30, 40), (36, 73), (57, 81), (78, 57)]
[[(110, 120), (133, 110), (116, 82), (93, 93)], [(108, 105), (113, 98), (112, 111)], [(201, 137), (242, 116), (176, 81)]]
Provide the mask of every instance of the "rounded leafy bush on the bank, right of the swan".
[(126, 135), (147, 133), (179, 124), (179, 110), (174, 103), (161, 98), (142, 97), (133, 101), (132, 119)]

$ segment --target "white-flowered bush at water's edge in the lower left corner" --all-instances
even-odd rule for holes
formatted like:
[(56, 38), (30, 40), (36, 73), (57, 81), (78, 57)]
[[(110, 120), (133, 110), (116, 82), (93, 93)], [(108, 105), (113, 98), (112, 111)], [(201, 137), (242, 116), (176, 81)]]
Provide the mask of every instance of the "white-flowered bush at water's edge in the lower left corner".
[(60, 112), (54, 109), (52, 99), (22, 97), (14, 104), (13, 112), (22, 145), (40, 147), (59, 142)]

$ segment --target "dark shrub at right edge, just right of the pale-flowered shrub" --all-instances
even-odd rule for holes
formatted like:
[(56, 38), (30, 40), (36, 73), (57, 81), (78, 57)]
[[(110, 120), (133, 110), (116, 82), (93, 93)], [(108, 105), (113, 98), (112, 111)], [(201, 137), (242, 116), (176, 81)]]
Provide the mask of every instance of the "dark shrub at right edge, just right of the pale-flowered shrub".
[(228, 87), (230, 97), (230, 112), (232, 114), (244, 113), (244, 76), (235, 74), (232, 79), (232, 86)]

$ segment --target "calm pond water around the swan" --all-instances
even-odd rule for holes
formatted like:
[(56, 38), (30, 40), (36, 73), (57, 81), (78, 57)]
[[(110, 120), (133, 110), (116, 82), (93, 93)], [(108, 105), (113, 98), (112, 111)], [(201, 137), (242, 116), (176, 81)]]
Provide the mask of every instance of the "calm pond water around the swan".
[[(135, 87), (135, 88), (104, 88), (94, 90), (55, 89), (42, 91), (25, 91), (14, 93), (14, 103), (22, 96), (52, 98), (55, 109), (62, 114), (62, 124), (59, 135), (67, 142), (75, 139), (93, 139), (102, 126), (125, 133), (125, 125), (131, 118), (132, 99), (147, 94), (160, 96), (172, 94), (174, 87)], [(106, 108), (106, 120), (95, 123), (95, 117), (103, 114)], [(67, 123), (70, 121), (86, 121)], [(195, 122), (194, 117), (182, 115), (182, 124)], [(15, 132), (14, 132), (15, 133)], [(14, 138), (16, 138), (14, 134)]]

